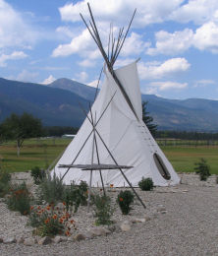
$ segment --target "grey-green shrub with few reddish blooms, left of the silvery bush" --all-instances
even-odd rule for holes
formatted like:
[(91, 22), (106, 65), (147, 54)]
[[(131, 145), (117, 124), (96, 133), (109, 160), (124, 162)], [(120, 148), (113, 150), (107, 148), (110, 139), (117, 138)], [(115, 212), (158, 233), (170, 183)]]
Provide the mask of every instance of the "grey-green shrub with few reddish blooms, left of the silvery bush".
[(28, 215), (30, 209), (31, 196), (27, 190), (26, 183), (15, 184), (10, 189), (6, 200), (8, 208), (12, 211), (18, 211), (22, 215)]

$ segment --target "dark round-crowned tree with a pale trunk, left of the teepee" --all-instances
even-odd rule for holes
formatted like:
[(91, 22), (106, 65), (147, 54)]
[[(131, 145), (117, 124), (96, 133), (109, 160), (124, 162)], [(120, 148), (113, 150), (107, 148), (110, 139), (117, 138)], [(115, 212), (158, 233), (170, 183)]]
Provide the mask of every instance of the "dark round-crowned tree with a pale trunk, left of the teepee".
[(42, 134), (40, 119), (28, 113), (24, 113), (21, 116), (12, 113), (11, 116), (1, 124), (0, 130), (5, 140), (16, 140), (18, 157), (20, 156), (21, 148), (26, 139), (38, 137)]

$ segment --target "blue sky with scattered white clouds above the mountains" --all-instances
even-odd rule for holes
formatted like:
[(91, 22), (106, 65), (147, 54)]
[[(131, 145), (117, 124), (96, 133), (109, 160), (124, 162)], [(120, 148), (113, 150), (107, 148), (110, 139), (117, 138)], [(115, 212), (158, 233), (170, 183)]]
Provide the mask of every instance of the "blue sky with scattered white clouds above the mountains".
[[(0, 0), (0, 77), (94, 86), (103, 60), (85, 30), (87, 1)], [(106, 45), (136, 18), (116, 66), (140, 58), (141, 92), (218, 99), (217, 0), (89, 0)]]

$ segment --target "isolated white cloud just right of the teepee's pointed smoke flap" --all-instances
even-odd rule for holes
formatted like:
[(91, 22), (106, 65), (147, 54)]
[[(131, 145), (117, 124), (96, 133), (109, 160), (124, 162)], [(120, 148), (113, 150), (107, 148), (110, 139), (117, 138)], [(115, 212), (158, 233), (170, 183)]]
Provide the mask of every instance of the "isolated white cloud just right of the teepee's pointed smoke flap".
[(187, 71), (191, 64), (185, 58), (172, 58), (163, 63), (138, 63), (138, 73), (142, 80), (161, 79), (175, 73)]

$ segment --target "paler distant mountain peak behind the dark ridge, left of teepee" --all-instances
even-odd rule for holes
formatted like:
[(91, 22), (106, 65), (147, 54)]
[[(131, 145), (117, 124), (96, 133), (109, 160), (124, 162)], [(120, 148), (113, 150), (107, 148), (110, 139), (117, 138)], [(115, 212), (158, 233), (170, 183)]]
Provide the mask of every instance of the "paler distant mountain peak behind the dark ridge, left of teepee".
[(48, 87), (68, 90), (90, 101), (94, 100), (96, 91), (95, 88), (85, 86), (82, 83), (67, 78), (57, 79), (49, 84)]

